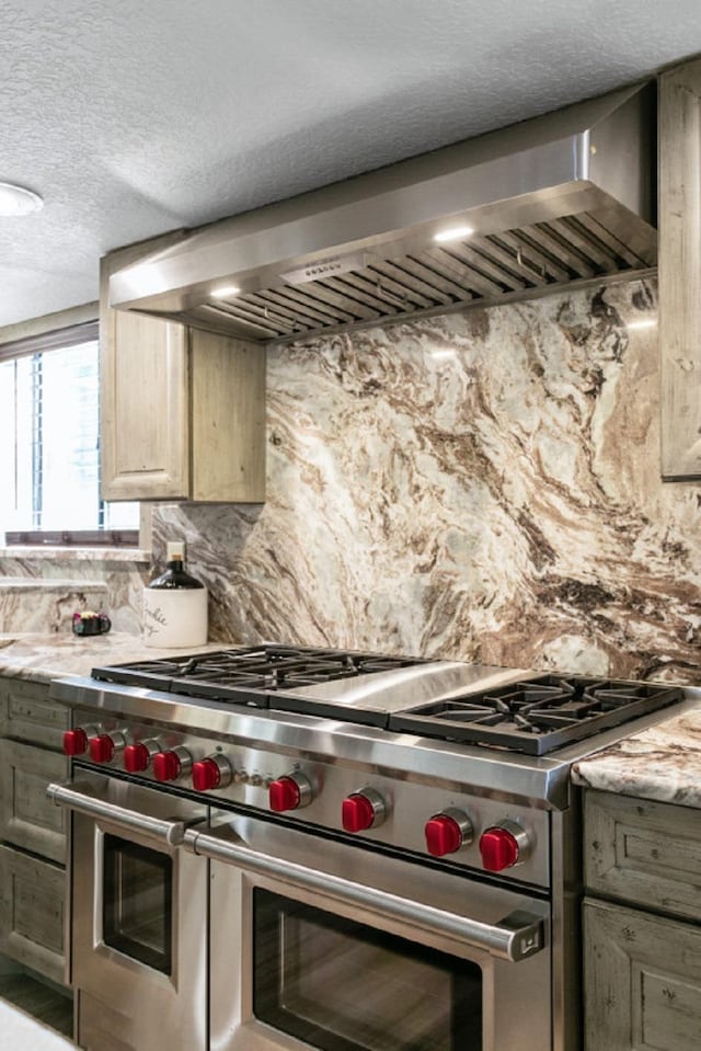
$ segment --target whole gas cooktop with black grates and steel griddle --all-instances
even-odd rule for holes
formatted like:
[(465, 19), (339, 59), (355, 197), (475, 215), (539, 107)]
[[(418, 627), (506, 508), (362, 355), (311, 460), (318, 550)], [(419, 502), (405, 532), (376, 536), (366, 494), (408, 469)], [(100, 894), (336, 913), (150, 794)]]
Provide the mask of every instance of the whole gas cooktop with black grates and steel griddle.
[(193, 704), (199, 698), (296, 711), (529, 755), (591, 738), (683, 696), (665, 684), (275, 644), (95, 667), (92, 676)]

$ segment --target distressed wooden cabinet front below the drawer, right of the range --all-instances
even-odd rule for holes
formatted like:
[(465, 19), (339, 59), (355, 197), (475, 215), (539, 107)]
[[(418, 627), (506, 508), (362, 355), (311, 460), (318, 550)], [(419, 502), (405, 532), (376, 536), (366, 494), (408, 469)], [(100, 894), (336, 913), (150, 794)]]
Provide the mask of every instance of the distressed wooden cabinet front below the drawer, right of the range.
[(699, 1051), (701, 928), (586, 901), (586, 1051)]

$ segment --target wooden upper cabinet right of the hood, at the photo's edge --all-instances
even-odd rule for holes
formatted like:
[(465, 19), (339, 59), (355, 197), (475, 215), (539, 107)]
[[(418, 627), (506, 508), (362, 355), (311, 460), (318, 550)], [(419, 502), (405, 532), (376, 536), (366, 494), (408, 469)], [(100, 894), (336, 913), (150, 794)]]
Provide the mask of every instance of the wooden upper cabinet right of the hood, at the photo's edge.
[(701, 478), (701, 60), (659, 78), (662, 475)]

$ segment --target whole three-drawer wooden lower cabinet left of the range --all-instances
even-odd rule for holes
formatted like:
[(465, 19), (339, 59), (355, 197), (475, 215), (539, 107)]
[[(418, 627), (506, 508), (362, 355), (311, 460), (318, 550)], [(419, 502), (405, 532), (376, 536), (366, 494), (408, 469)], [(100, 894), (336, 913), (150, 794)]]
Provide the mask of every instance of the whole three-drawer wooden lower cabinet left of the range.
[(0, 676), (0, 953), (59, 984), (67, 827), (46, 786), (68, 779), (67, 726), (47, 684)]

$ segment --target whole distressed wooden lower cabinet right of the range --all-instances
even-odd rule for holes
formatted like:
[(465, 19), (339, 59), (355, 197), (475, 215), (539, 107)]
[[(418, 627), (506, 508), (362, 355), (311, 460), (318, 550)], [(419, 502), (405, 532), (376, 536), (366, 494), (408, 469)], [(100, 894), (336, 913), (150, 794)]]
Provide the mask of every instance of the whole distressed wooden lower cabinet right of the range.
[(587, 791), (584, 869), (585, 1051), (699, 1051), (699, 811)]

